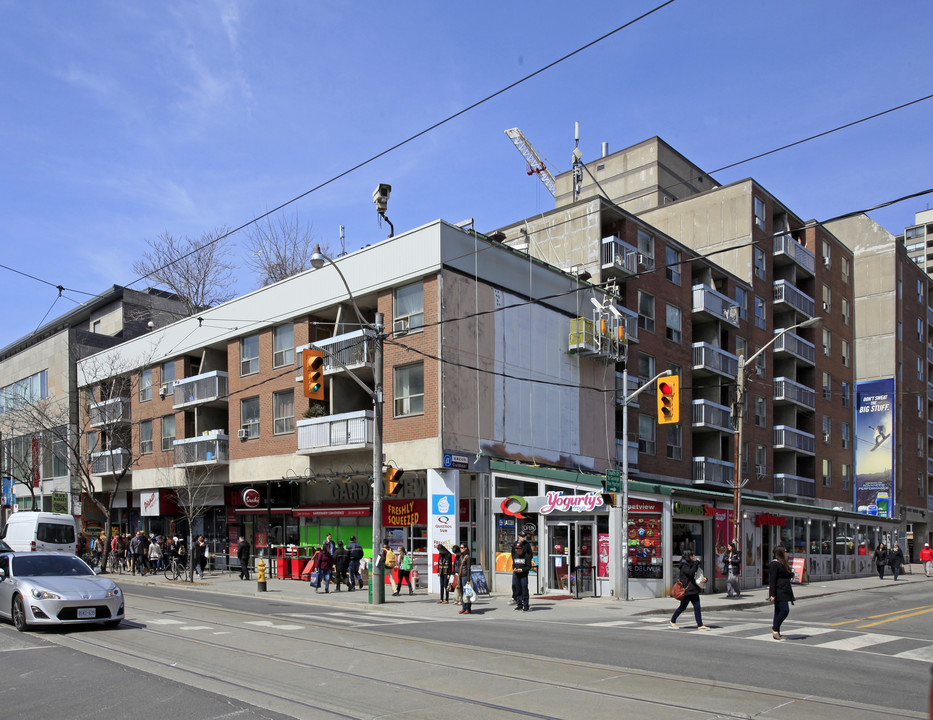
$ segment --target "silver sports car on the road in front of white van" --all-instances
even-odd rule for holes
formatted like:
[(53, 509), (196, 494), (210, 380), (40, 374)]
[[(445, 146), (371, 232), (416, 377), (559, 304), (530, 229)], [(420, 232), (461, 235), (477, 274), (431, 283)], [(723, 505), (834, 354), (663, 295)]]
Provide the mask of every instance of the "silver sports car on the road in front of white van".
[(0, 617), (21, 632), (30, 625), (116, 626), (123, 619), (123, 592), (74, 555), (0, 555)]

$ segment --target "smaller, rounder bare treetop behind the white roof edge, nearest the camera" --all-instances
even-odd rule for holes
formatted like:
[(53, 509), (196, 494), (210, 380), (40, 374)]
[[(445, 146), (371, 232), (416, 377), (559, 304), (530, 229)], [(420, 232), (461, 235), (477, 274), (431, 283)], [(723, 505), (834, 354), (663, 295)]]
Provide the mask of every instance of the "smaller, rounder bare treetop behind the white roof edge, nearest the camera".
[(246, 249), (246, 265), (257, 276), (260, 286), (271, 285), (311, 268), (314, 254), (311, 225), (301, 225), (297, 213), (294, 219), (284, 212), (270, 215), (250, 226)]

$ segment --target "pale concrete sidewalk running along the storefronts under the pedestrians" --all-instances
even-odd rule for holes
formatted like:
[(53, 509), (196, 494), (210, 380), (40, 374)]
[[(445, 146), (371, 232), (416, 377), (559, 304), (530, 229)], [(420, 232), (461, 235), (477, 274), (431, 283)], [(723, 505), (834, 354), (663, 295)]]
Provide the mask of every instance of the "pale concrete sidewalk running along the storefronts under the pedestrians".
[[(329, 593), (325, 593), (323, 588), (315, 592), (306, 581), (300, 580), (279, 580), (267, 579), (266, 591), (261, 592), (258, 588), (255, 573), (251, 573), (249, 580), (241, 580), (236, 571), (213, 571), (205, 572), (204, 579), (195, 578), (193, 583), (173, 582), (166, 580), (161, 574), (154, 576), (147, 575), (107, 575), (117, 584), (123, 586), (147, 585), (151, 587), (164, 587), (173, 592), (178, 590), (198, 590), (202, 592), (215, 592), (225, 595), (240, 595), (243, 597), (264, 598), (270, 601), (304, 602), (309, 604), (327, 605), (331, 607), (341, 606), (359, 606), (372, 610), (380, 610), (386, 613), (399, 615), (419, 615), (419, 616), (444, 616), (452, 614), (450, 605), (437, 604), (437, 593), (428, 593), (427, 590), (419, 589), (414, 595), (408, 594), (408, 588), (402, 591), (398, 597), (392, 595), (391, 585), (386, 585), (386, 598), (383, 605), (370, 605), (369, 589), (364, 585), (362, 590), (349, 592), (346, 588), (337, 592), (333, 586)], [(933, 578), (927, 578), (922, 572), (913, 574), (902, 574), (897, 584), (908, 584), (916, 582), (933, 582)], [(806, 601), (810, 598), (824, 597), (845, 592), (856, 592), (866, 588), (877, 586), (893, 585), (894, 581), (890, 576), (885, 576), (884, 580), (879, 580), (876, 575), (867, 577), (852, 578), (846, 580), (827, 580), (815, 583), (806, 583), (794, 585), (794, 595), (798, 602)], [(933, 588), (933, 585), (931, 585)], [(474, 614), (483, 614), (490, 610), (510, 610), (508, 601), (511, 594), (494, 593), (492, 595), (481, 596), (473, 604)], [(748, 609), (768, 605), (767, 588), (755, 588), (742, 593), (740, 598), (730, 599), (725, 593), (704, 594), (701, 598), (703, 610), (705, 612), (718, 612), (723, 610)], [(616, 601), (608, 597), (588, 597), (579, 600), (574, 599), (555, 599), (547, 595), (532, 595), (531, 609), (547, 610), (548, 620), (568, 622), (581, 619), (612, 619), (637, 616), (637, 615), (657, 615), (670, 614), (677, 606), (677, 601), (673, 598), (647, 598), (640, 600), (630, 600), (628, 602)]]

